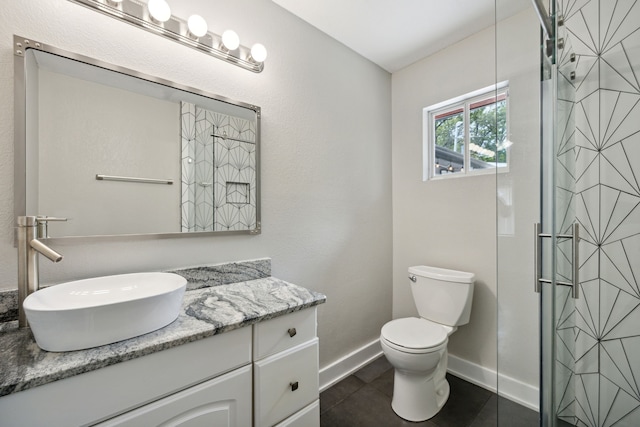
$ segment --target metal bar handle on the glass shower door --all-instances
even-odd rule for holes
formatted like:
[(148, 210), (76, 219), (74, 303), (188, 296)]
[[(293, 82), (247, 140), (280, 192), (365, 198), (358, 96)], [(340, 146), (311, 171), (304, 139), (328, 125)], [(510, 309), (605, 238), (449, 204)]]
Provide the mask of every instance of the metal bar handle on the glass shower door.
[[(572, 234), (558, 234), (556, 238), (559, 239), (571, 239), (572, 240), (572, 265), (571, 265), (571, 282), (564, 282), (556, 280), (556, 285), (570, 286), (571, 297), (577, 299), (579, 297), (580, 289), (580, 226), (578, 223), (574, 223), (571, 226)], [(544, 279), (542, 277), (542, 245), (541, 241), (545, 237), (552, 237), (551, 234), (542, 233), (542, 226), (539, 222), (534, 224), (534, 239), (533, 239), (533, 268), (535, 272), (534, 291), (540, 293), (542, 283), (553, 283), (552, 280)]]

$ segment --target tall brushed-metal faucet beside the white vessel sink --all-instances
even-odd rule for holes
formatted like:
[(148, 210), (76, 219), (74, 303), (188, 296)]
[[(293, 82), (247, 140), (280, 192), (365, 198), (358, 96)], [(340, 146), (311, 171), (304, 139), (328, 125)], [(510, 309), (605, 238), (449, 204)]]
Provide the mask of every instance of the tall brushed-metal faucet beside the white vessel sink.
[(22, 304), (29, 294), (40, 288), (38, 253), (53, 262), (62, 260), (62, 255), (38, 240), (40, 237), (47, 237), (48, 221), (66, 220), (36, 216), (18, 217), (18, 324), (21, 328), (29, 326)]

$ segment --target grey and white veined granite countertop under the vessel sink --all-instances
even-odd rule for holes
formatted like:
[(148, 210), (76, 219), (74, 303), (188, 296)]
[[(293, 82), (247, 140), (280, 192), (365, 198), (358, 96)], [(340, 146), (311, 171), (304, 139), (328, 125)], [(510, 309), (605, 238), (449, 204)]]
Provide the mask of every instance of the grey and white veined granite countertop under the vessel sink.
[[(269, 260), (270, 261), (270, 260)], [(87, 350), (41, 350), (17, 321), (0, 327), (0, 396), (322, 304), (323, 294), (275, 277), (219, 284), (202, 268), (174, 270), (189, 283), (178, 318), (157, 331)], [(270, 272), (270, 264), (269, 264)], [(203, 279), (204, 277), (204, 279)], [(228, 280), (228, 279), (227, 279)]]

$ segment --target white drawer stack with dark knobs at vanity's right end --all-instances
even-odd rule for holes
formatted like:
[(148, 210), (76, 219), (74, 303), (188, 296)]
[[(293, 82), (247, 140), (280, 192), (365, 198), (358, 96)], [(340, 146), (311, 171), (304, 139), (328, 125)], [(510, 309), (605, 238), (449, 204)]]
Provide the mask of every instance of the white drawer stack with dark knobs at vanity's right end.
[(316, 309), (254, 325), (254, 427), (320, 425)]

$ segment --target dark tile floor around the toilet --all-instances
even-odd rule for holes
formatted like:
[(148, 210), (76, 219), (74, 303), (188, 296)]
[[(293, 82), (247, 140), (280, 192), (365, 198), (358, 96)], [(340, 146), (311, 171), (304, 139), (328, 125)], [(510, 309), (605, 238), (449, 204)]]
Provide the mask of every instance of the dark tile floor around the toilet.
[(391, 409), (393, 367), (384, 356), (320, 394), (322, 427), (537, 427), (538, 413), (447, 375), (451, 395), (433, 418), (413, 423)]

